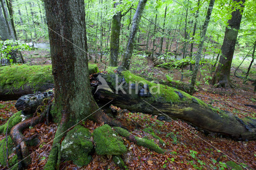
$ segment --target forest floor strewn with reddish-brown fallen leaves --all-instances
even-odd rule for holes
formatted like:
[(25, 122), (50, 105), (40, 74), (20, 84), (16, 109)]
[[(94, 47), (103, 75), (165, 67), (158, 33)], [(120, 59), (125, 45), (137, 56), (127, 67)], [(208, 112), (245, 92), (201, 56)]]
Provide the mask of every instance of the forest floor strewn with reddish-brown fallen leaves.
[[(49, 50), (25, 51), (24, 59), (30, 65), (35, 64), (51, 64)], [(153, 62), (139, 56), (134, 56), (131, 64), (131, 71), (150, 77), (156, 77), (166, 81), (166, 75), (172, 77), (173, 80), (179, 81), (181, 77), (180, 69), (164, 69), (154, 67)], [(198, 76), (198, 83), (196, 86), (195, 97), (202, 99), (205, 103), (211, 104), (222, 110), (227, 110), (238, 117), (256, 117), (256, 109), (245, 106), (244, 104), (256, 105), (256, 94), (253, 92), (254, 87), (252, 82), (248, 81), (243, 84), (243, 80), (234, 77), (234, 70), (240, 64), (240, 59), (234, 59), (231, 69), (232, 82), (238, 87), (236, 89), (214, 89), (210, 85), (209, 76), (211, 76), (210, 65), (204, 65), (201, 69), (201, 76)], [(238, 74), (244, 73), (248, 67), (246, 61), (240, 69)], [(91, 63), (93, 61), (91, 60)], [(102, 63), (105, 63), (103, 60)], [(98, 62), (100, 70), (104, 70), (104, 64)], [(208, 68), (209, 67), (209, 68)], [(184, 70), (188, 70), (189, 66)], [(255, 74), (256, 66), (252, 66), (252, 72)], [(208, 76), (208, 77), (207, 77)], [(207, 78), (206, 78), (207, 77)], [(250, 77), (255, 79), (255, 77)], [(190, 73), (184, 71), (183, 82), (189, 83)], [(5, 123), (8, 118), (16, 113), (14, 107), (16, 101), (0, 101), (0, 125)], [(132, 134), (144, 137), (145, 134), (142, 129), (151, 127), (158, 136), (164, 140), (165, 146), (160, 146), (168, 152), (165, 154), (158, 154), (148, 148), (137, 146), (124, 138), (124, 143), (129, 148), (124, 155), (124, 161), (127, 169), (222, 169), (226, 168), (223, 162), (233, 161), (244, 168), (256, 169), (256, 141), (235, 141), (229, 138), (222, 138), (218, 134), (210, 133), (204, 134), (200, 130), (196, 130), (188, 123), (180, 120), (165, 122), (159, 121), (156, 117), (146, 115), (143, 113), (130, 113), (122, 109), (117, 109), (120, 114), (116, 117), (123, 121), (133, 121), (141, 125), (140, 128), (134, 129), (130, 127)], [(85, 121), (81, 123), (86, 128), (94, 130), (100, 124), (92, 121)], [(30, 146), (29, 150), (32, 153), (32, 164), (30, 169), (41, 169), (48, 157), (52, 139), (56, 132), (56, 124), (51, 123), (45, 125), (40, 123), (32, 128), (33, 134), (38, 134), (40, 143), (37, 146)], [(23, 134), (28, 135), (29, 128), (25, 129)], [(31, 132), (31, 130), (30, 130)], [(4, 134), (0, 134), (0, 139), (4, 138)], [(149, 136), (150, 137), (150, 136)], [(159, 142), (159, 141), (156, 141)], [(36, 151), (36, 152), (35, 152)], [(0, 166), (0, 168), (3, 168)], [(72, 164), (71, 161), (62, 160), (60, 169), (118, 169), (112, 161), (111, 156), (92, 155), (92, 161), (87, 167), (78, 168)]]

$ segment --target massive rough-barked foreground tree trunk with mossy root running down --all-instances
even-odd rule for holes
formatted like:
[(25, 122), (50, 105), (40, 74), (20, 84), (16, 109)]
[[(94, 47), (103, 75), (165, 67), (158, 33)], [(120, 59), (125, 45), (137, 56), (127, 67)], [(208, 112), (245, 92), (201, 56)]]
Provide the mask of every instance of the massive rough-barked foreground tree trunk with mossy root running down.
[[(56, 111), (61, 118), (45, 165), (52, 170), (60, 155), (60, 140), (66, 130), (82, 119), (112, 121), (92, 97), (88, 59), (84, 0), (45, 0), (55, 86)], [(78, 34), (79, 33), (79, 34)]]

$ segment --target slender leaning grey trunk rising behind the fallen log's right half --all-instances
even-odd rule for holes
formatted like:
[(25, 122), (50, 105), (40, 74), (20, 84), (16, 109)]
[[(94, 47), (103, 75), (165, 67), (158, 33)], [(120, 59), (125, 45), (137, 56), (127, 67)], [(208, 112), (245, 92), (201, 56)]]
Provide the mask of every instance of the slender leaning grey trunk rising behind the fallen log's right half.
[(204, 40), (205, 40), (205, 35), (206, 35), (206, 31), (208, 28), (208, 24), (210, 22), (210, 17), (212, 14), (212, 9), (214, 6), (214, 2), (215, 0), (210, 0), (209, 6), (208, 6), (208, 10), (207, 10), (207, 14), (204, 20), (204, 25), (201, 31), (201, 36), (200, 36), (200, 43), (198, 45), (198, 52), (196, 54), (196, 63), (195, 63), (195, 68), (194, 71), (192, 73), (192, 77), (191, 77), (191, 83), (190, 83), (190, 94), (192, 94), (194, 92), (194, 87), (195, 87), (195, 82), (196, 82), (196, 75), (199, 69), (199, 63), (200, 63), (200, 59), (201, 59), (201, 53), (202, 53), (202, 49), (203, 49), (203, 45), (204, 45)]

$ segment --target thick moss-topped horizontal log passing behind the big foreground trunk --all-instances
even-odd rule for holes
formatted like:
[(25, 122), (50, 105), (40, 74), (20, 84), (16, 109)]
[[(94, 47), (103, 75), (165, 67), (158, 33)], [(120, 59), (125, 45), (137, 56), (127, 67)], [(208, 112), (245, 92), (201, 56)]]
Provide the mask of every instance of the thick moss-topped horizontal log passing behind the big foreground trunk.
[[(89, 64), (89, 73), (98, 72)], [(0, 101), (17, 100), (22, 95), (54, 87), (52, 65), (11, 65), (0, 67)]]

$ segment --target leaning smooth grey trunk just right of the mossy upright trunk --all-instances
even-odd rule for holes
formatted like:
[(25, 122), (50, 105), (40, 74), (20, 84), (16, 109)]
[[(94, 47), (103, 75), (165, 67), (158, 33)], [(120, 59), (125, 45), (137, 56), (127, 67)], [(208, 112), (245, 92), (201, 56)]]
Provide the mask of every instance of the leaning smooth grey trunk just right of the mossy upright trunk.
[(130, 28), (130, 36), (129, 40), (127, 42), (126, 51), (124, 52), (123, 60), (122, 60), (122, 67), (125, 69), (129, 69), (130, 63), (131, 63), (131, 57), (134, 47), (134, 38), (137, 34), (140, 19), (142, 17), (142, 13), (144, 11), (144, 8), (146, 6), (147, 0), (140, 0), (138, 3), (136, 12), (132, 18), (132, 26)]

